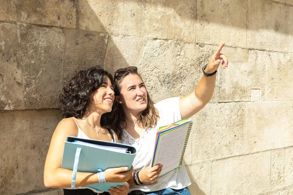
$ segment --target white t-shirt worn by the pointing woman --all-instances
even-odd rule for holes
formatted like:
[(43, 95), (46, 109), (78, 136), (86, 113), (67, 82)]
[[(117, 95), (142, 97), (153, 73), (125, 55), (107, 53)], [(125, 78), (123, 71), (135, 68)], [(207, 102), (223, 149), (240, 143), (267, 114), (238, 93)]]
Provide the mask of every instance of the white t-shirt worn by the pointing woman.
[[(126, 130), (123, 131), (121, 143), (134, 146), (137, 150), (132, 164), (135, 171), (140, 171), (150, 165), (157, 129), (182, 119), (179, 100), (180, 97), (168, 98), (156, 103), (155, 107), (158, 109), (160, 115), (157, 125), (153, 128), (145, 129), (140, 138), (135, 139)], [(130, 186), (129, 191), (141, 190), (144, 192), (154, 192), (167, 188), (182, 189), (190, 184), (191, 181), (183, 164), (166, 175), (160, 176), (155, 183)]]

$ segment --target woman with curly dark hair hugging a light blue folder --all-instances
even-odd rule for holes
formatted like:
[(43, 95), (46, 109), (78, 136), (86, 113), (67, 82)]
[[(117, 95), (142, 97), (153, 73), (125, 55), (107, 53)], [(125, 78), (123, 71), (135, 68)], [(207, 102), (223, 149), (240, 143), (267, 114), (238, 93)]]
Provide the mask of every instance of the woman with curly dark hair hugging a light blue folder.
[[(118, 141), (114, 131), (101, 124), (103, 114), (112, 110), (114, 101), (113, 77), (100, 67), (79, 71), (63, 88), (60, 95), (64, 119), (58, 124), (51, 139), (44, 167), (44, 184), (50, 188), (70, 188), (72, 171), (61, 168), (64, 141), (67, 136)], [(105, 120), (104, 120), (105, 121)], [(103, 158), (103, 156), (101, 156)], [(107, 182), (125, 182), (132, 176), (127, 167), (111, 168), (104, 171)], [(77, 172), (76, 186), (98, 183), (95, 173)], [(87, 187), (86, 187), (87, 188)], [(111, 195), (126, 195), (128, 183), (111, 188)], [(89, 189), (64, 190), (64, 195), (97, 195)], [(108, 194), (108, 193), (102, 193)]]

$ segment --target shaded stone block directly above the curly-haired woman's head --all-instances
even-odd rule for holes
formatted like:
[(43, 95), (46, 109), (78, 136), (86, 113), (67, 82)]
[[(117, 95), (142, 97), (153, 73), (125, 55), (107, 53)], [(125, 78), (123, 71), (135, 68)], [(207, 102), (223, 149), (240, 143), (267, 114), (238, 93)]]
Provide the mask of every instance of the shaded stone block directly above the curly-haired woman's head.
[(66, 29), (64, 82), (76, 71), (103, 67), (107, 39), (108, 35), (95, 31)]

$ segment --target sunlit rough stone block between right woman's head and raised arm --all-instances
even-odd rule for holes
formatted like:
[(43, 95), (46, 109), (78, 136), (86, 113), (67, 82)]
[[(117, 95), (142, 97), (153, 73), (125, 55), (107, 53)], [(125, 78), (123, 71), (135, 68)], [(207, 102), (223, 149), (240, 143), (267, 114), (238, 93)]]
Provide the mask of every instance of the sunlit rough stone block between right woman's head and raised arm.
[[(200, 47), (180, 41), (148, 40), (138, 69), (153, 100), (157, 102), (193, 92), (203, 76), (202, 66), (213, 50), (209, 45)], [(216, 90), (211, 101), (215, 98)]]

